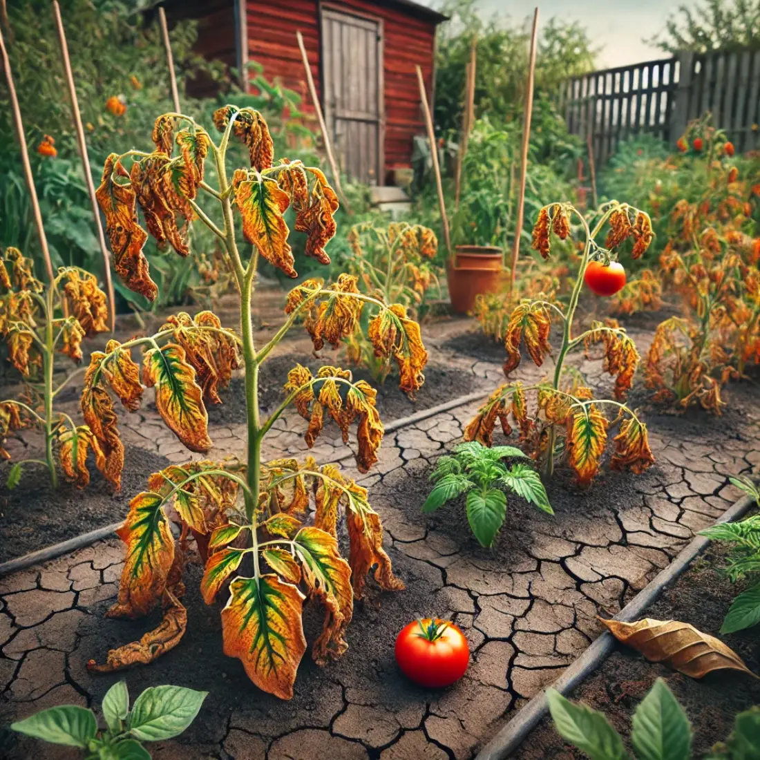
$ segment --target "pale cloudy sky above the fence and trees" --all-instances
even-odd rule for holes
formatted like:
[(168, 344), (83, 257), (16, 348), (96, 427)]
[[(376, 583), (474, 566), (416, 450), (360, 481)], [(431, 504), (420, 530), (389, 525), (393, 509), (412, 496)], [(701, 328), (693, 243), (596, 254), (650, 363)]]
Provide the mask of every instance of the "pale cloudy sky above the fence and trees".
[[(416, 0), (439, 7), (439, 0)], [(539, 24), (557, 16), (579, 21), (599, 47), (599, 68), (613, 68), (656, 59), (661, 53), (643, 40), (659, 33), (684, 0), (477, 0), (483, 14), (522, 21), (539, 6)], [(686, 0), (694, 5), (695, 0)]]

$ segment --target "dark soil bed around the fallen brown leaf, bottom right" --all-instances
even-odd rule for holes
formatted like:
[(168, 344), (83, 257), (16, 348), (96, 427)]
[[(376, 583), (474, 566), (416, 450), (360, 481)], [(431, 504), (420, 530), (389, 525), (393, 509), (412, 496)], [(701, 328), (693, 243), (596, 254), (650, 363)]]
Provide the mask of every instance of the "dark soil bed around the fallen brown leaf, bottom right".
[[(660, 620), (689, 622), (698, 630), (718, 636), (742, 657), (754, 673), (760, 673), (760, 643), (755, 631), (720, 635), (720, 624), (736, 594), (736, 586), (717, 568), (724, 565), (726, 551), (711, 544), (676, 584), (647, 611)], [(627, 739), (631, 717), (654, 680), (663, 678), (686, 710), (694, 730), (693, 753), (702, 757), (714, 743), (731, 733), (737, 713), (760, 705), (760, 682), (729, 670), (695, 680), (658, 663), (649, 663), (631, 648), (616, 644), (610, 655), (581, 686), (566, 695), (603, 711), (618, 732)], [(630, 749), (630, 744), (626, 741)], [(542, 758), (586, 758), (565, 743), (545, 717), (511, 755), (515, 760)]]

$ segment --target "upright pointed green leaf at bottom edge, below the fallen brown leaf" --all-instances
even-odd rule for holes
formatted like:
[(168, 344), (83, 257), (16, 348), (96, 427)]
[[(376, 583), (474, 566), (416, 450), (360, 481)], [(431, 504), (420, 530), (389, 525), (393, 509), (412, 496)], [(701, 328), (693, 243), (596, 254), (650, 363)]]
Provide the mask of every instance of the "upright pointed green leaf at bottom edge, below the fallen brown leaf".
[(689, 760), (692, 726), (673, 692), (658, 678), (632, 720), (631, 743), (638, 760)]

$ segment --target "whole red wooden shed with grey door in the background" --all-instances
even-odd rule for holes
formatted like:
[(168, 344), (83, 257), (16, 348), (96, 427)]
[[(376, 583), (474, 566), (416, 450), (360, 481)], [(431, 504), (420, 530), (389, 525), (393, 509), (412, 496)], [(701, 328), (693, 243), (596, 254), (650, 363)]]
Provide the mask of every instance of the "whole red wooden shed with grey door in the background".
[(201, 55), (306, 88), (296, 31), (303, 35), (341, 169), (371, 184), (411, 166), (425, 133), (416, 65), (432, 101), (435, 30), (446, 17), (412, 0), (166, 0), (169, 21), (197, 19)]

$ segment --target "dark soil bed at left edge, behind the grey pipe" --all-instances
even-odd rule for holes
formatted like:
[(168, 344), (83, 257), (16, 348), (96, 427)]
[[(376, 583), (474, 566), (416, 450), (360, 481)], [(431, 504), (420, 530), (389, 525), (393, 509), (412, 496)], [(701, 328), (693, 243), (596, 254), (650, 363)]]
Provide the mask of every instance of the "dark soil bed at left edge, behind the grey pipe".
[[(44, 456), (44, 451), (31, 450), (25, 457)], [(59, 488), (53, 490), (47, 470), (42, 465), (27, 464), (13, 490), (5, 487), (12, 462), (0, 464), (0, 562), (45, 549), (54, 543), (74, 538), (90, 530), (123, 520), (129, 502), (145, 489), (150, 473), (166, 467), (166, 458), (138, 446), (125, 446), (122, 491), (97, 471), (90, 455), (90, 485), (86, 490), (67, 483), (59, 472)]]

